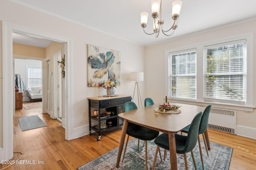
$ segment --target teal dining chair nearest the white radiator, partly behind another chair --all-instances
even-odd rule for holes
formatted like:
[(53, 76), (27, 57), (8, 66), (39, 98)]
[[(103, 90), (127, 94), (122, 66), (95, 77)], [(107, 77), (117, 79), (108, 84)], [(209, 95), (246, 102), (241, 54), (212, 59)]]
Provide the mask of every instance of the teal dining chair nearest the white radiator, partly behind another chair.
[[(202, 136), (203, 136), (204, 146), (205, 146), (205, 149), (206, 149), (206, 152), (207, 152), (207, 156), (209, 156), (208, 148), (207, 148), (207, 144), (206, 144), (206, 139), (205, 139), (205, 136), (204, 136), (204, 132), (207, 130), (207, 127), (208, 127), (208, 120), (209, 120), (209, 114), (210, 114), (211, 107), (212, 107), (212, 105), (209, 104), (204, 109), (204, 112), (203, 112), (203, 115), (202, 115), (202, 118), (201, 118), (201, 121), (200, 121), (200, 125), (199, 125), (199, 130), (198, 130), (198, 145), (199, 145), (200, 157), (201, 157), (203, 170), (204, 170), (204, 160), (203, 160), (203, 154), (202, 154), (200, 136), (199, 135), (202, 134)], [(184, 129), (182, 129), (181, 132), (188, 133), (189, 129), (190, 129), (190, 125), (188, 125)]]

